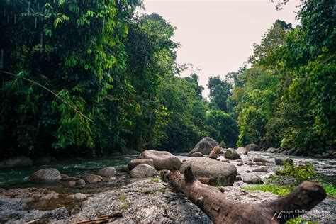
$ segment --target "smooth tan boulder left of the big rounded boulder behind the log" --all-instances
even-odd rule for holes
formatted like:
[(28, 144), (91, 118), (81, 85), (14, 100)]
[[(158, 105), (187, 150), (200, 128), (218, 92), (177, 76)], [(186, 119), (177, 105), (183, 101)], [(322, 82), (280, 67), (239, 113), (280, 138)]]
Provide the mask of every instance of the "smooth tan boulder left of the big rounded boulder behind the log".
[(145, 150), (141, 153), (140, 159), (152, 159), (154, 162), (154, 168), (160, 169), (179, 169), (181, 167), (181, 160), (170, 152)]

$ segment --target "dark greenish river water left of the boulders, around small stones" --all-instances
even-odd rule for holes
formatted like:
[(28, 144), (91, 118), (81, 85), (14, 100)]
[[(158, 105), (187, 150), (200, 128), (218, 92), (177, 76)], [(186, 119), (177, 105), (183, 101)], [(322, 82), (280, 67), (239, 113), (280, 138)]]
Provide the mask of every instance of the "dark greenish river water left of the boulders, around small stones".
[[(24, 187), (45, 187), (52, 189), (58, 193), (95, 193), (103, 191), (104, 189), (111, 189), (116, 186), (123, 186), (130, 183), (128, 174), (118, 171), (124, 164), (127, 164), (130, 159), (137, 157), (137, 155), (121, 155), (113, 157), (103, 157), (98, 159), (60, 159), (52, 164), (24, 167), (24, 168), (6, 168), (0, 169), (0, 188), (13, 189)], [(101, 182), (82, 186), (79, 188), (67, 187), (64, 184), (34, 184), (27, 181), (30, 174), (38, 169), (55, 168), (61, 174), (67, 174), (71, 177), (85, 179), (88, 174), (96, 174), (99, 169), (103, 167), (116, 167), (116, 182)]]

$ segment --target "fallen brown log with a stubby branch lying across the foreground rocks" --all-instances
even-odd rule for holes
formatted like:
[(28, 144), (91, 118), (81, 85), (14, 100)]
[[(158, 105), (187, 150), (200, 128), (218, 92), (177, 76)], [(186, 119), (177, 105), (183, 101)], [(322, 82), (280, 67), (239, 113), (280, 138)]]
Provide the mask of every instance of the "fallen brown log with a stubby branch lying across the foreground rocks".
[(214, 223), (286, 223), (309, 211), (326, 196), (320, 185), (303, 182), (290, 194), (274, 201), (240, 203), (227, 200), (217, 188), (202, 184), (194, 177), (191, 167), (186, 167), (184, 174), (164, 170), (161, 176), (186, 194)]

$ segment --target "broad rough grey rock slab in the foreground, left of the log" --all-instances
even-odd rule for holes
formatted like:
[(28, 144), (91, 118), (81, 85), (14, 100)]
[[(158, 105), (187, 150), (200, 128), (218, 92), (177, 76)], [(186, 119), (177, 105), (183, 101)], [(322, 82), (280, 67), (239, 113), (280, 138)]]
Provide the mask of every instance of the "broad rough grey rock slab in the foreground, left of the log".
[(123, 216), (108, 223), (212, 223), (184, 194), (171, 188), (163, 181), (145, 180), (103, 191), (87, 198), (79, 213), (60, 223), (75, 223), (116, 211)]

